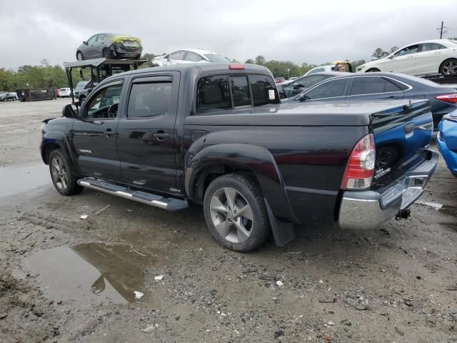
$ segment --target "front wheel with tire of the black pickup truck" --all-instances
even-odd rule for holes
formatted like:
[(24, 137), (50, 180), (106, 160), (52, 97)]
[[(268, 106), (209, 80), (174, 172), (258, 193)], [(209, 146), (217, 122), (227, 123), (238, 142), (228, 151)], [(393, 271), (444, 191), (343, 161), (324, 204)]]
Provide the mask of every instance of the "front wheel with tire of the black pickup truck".
[[(79, 186), (77, 183), (78, 179), (71, 172), (71, 164), (69, 164), (67, 157), (60, 149), (51, 151), (48, 161), (52, 183), (57, 192), (66, 196), (81, 193), (84, 187)], [(56, 164), (59, 168), (56, 167)], [(65, 182), (64, 179), (66, 180)]]

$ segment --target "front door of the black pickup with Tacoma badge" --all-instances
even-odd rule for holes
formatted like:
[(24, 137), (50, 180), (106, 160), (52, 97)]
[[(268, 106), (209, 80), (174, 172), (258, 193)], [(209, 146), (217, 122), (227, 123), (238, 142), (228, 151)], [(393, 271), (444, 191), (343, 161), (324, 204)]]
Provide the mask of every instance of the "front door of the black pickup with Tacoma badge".
[(90, 94), (73, 123), (71, 145), (85, 177), (121, 179), (116, 129), (123, 84), (122, 79), (112, 81)]

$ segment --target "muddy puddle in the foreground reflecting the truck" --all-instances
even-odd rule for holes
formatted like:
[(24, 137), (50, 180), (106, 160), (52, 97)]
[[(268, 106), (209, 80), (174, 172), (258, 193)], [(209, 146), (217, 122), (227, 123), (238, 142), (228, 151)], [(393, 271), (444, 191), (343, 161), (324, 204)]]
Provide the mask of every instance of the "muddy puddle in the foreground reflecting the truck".
[(129, 244), (89, 243), (41, 250), (25, 259), (24, 269), (38, 274), (49, 299), (87, 307), (141, 299), (144, 271), (154, 262)]

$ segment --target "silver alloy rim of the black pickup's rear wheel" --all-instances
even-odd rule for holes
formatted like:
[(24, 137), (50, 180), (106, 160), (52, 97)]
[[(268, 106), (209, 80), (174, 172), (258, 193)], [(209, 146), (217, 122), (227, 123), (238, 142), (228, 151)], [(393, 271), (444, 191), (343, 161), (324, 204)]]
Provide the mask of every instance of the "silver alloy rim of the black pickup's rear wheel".
[(246, 199), (231, 187), (214, 192), (210, 203), (211, 219), (221, 237), (232, 243), (242, 243), (253, 230), (253, 213)]

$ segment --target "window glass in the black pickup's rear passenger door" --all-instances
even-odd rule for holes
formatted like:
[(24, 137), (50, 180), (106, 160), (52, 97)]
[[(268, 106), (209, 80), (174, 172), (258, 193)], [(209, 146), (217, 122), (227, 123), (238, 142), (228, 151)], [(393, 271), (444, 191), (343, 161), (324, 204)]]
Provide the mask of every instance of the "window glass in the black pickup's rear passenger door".
[(169, 111), (171, 82), (133, 84), (131, 87), (128, 118), (161, 116)]

